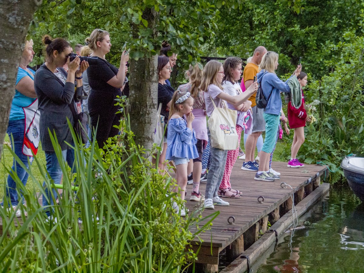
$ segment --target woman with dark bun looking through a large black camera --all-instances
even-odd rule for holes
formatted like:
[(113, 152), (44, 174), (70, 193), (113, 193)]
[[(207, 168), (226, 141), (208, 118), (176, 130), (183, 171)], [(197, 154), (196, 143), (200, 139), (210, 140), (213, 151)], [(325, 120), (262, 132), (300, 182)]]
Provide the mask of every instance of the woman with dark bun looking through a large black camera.
[[(56, 135), (62, 149), (63, 159), (66, 161), (67, 143), (72, 142), (72, 135), (68, 127), (67, 119), (71, 125), (74, 124), (71, 107), (75, 109), (75, 79), (77, 91), (82, 93), (82, 72), (87, 69), (88, 63), (82, 61), (78, 56), (70, 62), (69, 54), (72, 52), (70, 44), (62, 39), (51, 39), (46, 35), (43, 37), (46, 45), (46, 62), (37, 70), (34, 77), (34, 88), (39, 100), (40, 110), (40, 141), (42, 149), (46, 154), (46, 167), (51, 179), (59, 184), (62, 178), (60, 168), (50, 134)], [(68, 65), (68, 74), (62, 71), (64, 64)], [(62, 71), (62, 72), (61, 72)], [(66, 143), (67, 142), (67, 143)], [(68, 160), (70, 161), (70, 160)], [(73, 162), (67, 162), (72, 167)], [(43, 187), (45, 187), (45, 182)], [(47, 197), (43, 195), (43, 206), (53, 204), (52, 196), (48, 189), (45, 190)], [(52, 189), (54, 198), (57, 199), (57, 191)], [(50, 212), (47, 212), (48, 216)]]

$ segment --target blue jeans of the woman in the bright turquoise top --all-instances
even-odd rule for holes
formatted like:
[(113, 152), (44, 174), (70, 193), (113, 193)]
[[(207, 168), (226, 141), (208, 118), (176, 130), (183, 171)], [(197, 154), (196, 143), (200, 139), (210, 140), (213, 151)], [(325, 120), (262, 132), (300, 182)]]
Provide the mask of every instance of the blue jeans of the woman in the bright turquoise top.
[[(27, 155), (23, 154), (23, 141), (24, 141), (24, 127), (25, 127), (25, 119), (18, 119), (18, 120), (9, 120), (9, 125), (7, 129), (7, 133), (10, 138), (11, 142), (11, 149), (14, 151), (14, 153), (19, 157), (20, 161), (24, 163), (25, 167), (27, 169), (29, 168), (28, 164), (28, 158), (29, 161), (33, 161), (33, 157), (28, 157)], [(12, 140), (14, 139), (14, 141)], [(25, 186), (28, 180), (28, 173), (25, 169), (23, 169), (18, 162), (16, 162), (15, 158), (13, 160), (13, 166), (11, 168), (11, 172), (13, 174), (16, 174), (21, 183)], [(11, 178), (10, 175), (8, 175), (8, 181), (7, 181), (7, 190), (6, 190), (6, 196), (10, 198), (10, 202), (12, 206), (16, 206), (18, 201), (18, 192), (16, 190), (16, 183), (14, 179)], [(21, 191), (19, 191), (21, 202), (23, 202), (23, 194)], [(4, 202), (3, 202), (4, 203)], [(1, 203), (1, 205), (3, 205)]]

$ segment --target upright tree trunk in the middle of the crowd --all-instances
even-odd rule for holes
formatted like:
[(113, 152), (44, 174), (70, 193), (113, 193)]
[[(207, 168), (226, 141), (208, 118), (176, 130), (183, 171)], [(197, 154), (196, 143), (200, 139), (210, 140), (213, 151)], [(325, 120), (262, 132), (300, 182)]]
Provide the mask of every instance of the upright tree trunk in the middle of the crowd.
[[(143, 18), (156, 35), (155, 23), (159, 14), (154, 9), (146, 9)], [(134, 38), (138, 37), (138, 26), (132, 25)], [(130, 62), (130, 124), (135, 134), (135, 142), (151, 150), (153, 146), (158, 99), (158, 58), (150, 56)]]

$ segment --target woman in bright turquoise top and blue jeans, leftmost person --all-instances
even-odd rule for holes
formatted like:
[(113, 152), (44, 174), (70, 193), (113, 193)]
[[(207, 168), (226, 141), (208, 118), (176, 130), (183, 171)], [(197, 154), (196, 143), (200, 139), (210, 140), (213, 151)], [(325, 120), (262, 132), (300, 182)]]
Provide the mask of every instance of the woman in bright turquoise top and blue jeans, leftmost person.
[[(35, 72), (27, 68), (33, 60), (33, 55), (33, 41), (26, 41), (18, 68), (15, 96), (11, 104), (7, 129), (12, 150), (27, 168), (29, 168), (28, 158), (29, 162), (32, 162), (32, 155), (37, 153), (39, 144), (40, 114), (38, 111), (37, 95), (34, 91)], [(13, 161), (12, 172), (14, 174), (16, 173), (25, 186), (28, 180), (28, 173), (15, 159)], [(23, 195), (21, 191), (18, 193), (16, 183), (10, 175), (8, 175), (7, 184), (7, 205), (5, 204), (5, 206), (15, 208), (19, 203), (18, 194), (21, 197)], [(20, 210), (16, 211), (16, 216), (20, 216)]]

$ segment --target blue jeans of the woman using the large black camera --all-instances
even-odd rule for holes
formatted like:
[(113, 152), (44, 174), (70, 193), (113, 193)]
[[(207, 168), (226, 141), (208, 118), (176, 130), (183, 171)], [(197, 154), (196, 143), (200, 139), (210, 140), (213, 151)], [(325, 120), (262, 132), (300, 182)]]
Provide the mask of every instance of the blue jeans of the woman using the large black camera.
[[(68, 166), (72, 167), (73, 162), (71, 162), (69, 156), (67, 157), (67, 151), (68, 150), (62, 151), (62, 157), (63, 157), (64, 161), (67, 161)], [(47, 168), (47, 171), (48, 171), (51, 179), (54, 181), (55, 184), (60, 184), (61, 179), (62, 179), (62, 170), (61, 170), (61, 166), (59, 165), (56, 153), (55, 152), (46, 152), (46, 151), (44, 151), (44, 153), (46, 154), (46, 168)], [(58, 190), (52, 188), (50, 191), (46, 187), (46, 182), (43, 182), (43, 188), (46, 191), (46, 195), (43, 194), (43, 206), (54, 205), (51, 193), (53, 193), (54, 198), (57, 199)], [(49, 200), (49, 202), (47, 199)], [(49, 216), (50, 215), (49, 208), (47, 208), (46, 210), (47, 210), (47, 215)]]

